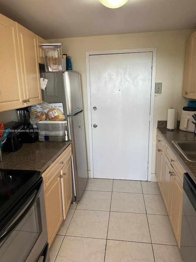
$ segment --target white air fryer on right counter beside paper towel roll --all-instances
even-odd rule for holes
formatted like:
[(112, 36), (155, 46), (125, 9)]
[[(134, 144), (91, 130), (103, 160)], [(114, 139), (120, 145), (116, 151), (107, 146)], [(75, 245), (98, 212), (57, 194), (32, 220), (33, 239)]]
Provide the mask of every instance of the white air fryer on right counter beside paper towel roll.
[(182, 108), (182, 113), (181, 113), (181, 118), (180, 118), (180, 126), (179, 129), (183, 131), (188, 131), (188, 132), (194, 132), (195, 131), (195, 126), (192, 123), (194, 120), (192, 115), (196, 113), (196, 108), (195, 107), (183, 107)]

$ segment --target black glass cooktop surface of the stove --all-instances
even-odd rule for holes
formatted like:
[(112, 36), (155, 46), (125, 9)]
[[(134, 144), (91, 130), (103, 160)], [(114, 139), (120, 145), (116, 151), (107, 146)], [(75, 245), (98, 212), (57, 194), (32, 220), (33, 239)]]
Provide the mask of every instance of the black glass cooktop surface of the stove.
[(41, 173), (29, 170), (0, 170), (0, 221), (39, 180)]

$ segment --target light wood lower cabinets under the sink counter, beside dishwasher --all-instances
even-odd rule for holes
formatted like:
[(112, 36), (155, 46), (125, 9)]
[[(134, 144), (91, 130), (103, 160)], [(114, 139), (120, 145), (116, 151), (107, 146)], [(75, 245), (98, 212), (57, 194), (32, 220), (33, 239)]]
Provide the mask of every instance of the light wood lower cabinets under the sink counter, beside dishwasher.
[[(158, 132), (157, 134), (160, 136)], [(161, 139), (163, 140), (163, 138)], [(158, 140), (157, 149), (160, 149), (160, 143)], [(165, 144), (164, 149), (162, 148), (161, 150), (162, 151), (157, 151), (158, 153), (156, 153), (156, 178), (177, 244), (180, 247), (183, 204), (183, 174), (186, 171), (178, 162), (167, 143)]]

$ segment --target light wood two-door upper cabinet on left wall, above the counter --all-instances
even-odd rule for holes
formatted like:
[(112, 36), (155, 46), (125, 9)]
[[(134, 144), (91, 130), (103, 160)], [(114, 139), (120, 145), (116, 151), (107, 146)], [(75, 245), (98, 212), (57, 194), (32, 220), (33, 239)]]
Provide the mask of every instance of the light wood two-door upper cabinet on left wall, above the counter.
[(0, 111), (40, 104), (37, 36), (0, 14)]

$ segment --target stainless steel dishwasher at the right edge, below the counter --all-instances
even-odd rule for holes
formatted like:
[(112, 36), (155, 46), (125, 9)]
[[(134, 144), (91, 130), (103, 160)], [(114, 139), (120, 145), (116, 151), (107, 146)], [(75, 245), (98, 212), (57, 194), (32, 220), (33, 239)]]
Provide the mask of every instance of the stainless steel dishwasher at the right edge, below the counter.
[(184, 262), (196, 262), (196, 185), (188, 173), (183, 181), (180, 254)]

